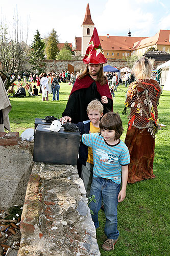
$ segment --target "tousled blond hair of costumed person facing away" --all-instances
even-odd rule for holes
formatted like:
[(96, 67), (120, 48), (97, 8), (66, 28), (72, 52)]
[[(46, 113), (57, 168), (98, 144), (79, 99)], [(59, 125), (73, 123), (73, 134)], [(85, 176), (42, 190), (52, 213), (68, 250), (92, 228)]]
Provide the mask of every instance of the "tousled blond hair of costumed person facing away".
[(132, 73), (135, 75), (136, 79), (146, 79), (147, 77), (151, 77), (152, 69), (151, 61), (142, 57), (135, 62)]

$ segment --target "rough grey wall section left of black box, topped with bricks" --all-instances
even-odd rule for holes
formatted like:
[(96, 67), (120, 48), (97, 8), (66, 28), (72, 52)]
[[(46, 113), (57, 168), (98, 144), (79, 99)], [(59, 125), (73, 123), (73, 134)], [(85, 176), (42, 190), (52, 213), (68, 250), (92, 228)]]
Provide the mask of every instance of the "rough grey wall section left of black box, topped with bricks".
[(8, 145), (13, 139), (1, 138), (6, 146), (0, 146), (0, 209), (22, 205), (25, 200), (28, 179), (32, 169), (32, 146), (28, 142)]

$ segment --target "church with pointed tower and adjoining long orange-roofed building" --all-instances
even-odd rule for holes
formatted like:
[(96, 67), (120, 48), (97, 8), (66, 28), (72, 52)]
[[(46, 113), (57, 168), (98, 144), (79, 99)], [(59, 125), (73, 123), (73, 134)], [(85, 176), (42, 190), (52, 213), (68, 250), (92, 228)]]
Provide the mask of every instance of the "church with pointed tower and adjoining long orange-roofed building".
[[(87, 4), (82, 37), (75, 37), (75, 55), (84, 56), (94, 29), (89, 4)], [(99, 36), (104, 55), (107, 59), (126, 59), (130, 55), (143, 55), (150, 47), (170, 52), (170, 30), (159, 30), (152, 37), (134, 37), (129, 31), (127, 36)]]

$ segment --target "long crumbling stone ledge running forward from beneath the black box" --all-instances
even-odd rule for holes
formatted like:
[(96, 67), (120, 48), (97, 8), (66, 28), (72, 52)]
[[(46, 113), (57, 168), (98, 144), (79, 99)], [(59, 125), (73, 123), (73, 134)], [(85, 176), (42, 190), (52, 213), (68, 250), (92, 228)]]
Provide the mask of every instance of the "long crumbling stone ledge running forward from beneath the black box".
[(34, 163), (21, 231), (18, 256), (100, 255), (76, 167)]

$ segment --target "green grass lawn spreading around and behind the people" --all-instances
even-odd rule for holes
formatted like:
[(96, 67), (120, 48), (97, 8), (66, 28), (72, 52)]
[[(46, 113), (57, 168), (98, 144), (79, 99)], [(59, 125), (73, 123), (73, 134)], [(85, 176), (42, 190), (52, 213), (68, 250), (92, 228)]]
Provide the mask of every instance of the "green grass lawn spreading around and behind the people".
[[(26, 98), (10, 98), (12, 110), (9, 114), (11, 131), (20, 134), (27, 128), (34, 128), (35, 118), (47, 115), (62, 116), (72, 86), (60, 84), (59, 101), (52, 102), (52, 94), (48, 102), (42, 102), (41, 96)], [(123, 121), (124, 141), (127, 129), (127, 116), (122, 115), (126, 93), (125, 86), (119, 86), (115, 92), (114, 111), (120, 114)], [(118, 204), (118, 230), (120, 233), (115, 250), (105, 252), (102, 244), (106, 240), (104, 234), (105, 215), (100, 210), (100, 227), (96, 237), (102, 256), (169, 256), (170, 255), (170, 223), (169, 223), (169, 96), (163, 91), (158, 106), (159, 122), (166, 125), (156, 135), (154, 174), (156, 179), (127, 185), (127, 197)]]

